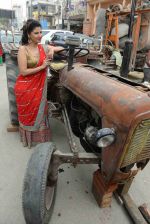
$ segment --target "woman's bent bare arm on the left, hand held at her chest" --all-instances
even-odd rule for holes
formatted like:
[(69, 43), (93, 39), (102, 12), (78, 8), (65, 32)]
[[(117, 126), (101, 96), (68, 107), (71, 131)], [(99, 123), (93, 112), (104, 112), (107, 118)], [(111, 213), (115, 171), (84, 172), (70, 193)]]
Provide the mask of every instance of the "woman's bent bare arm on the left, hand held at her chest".
[(23, 76), (32, 75), (35, 74), (47, 67), (46, 62), (43, 63), (43, 65), (38, 66), (36, 68), (27, 68), (27, 56), (26, 56), (26, 50), (24, 46), (21, 46), (18, 51), (18, 67), (20, 74)]

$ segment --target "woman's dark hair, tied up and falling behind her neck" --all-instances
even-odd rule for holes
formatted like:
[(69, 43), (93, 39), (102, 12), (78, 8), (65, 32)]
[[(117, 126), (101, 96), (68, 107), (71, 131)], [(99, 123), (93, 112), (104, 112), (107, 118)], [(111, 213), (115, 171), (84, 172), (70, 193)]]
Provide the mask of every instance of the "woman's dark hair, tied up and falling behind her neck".
[(22, 39), (21, 39), (21, 44), (26, 45), (29, 42), (28, 35), (36, 28), (36, 27), (41, 27), (41, 24), (34, 19), (28, 19), (26, 24), (22, 27)]

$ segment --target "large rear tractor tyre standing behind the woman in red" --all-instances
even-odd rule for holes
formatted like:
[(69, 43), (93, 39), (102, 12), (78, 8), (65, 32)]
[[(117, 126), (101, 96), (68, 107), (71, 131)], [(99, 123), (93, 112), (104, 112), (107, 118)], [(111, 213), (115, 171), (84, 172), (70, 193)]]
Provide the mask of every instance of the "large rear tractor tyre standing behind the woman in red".
[(16, 97), (14, 86), (19, 74), (17, 58), (13, 58), (10, 54), (6, 54), (6, 76), (9, 101), (9, 116), (12, 125), (18, 125), (18, 112), (16, 105)]

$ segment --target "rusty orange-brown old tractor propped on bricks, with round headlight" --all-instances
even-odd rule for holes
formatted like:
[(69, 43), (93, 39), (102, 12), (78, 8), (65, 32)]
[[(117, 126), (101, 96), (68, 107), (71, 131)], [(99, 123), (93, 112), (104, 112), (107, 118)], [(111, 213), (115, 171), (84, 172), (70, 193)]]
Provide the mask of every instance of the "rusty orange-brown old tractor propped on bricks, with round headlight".
[[(136, 206), (129, 206), (133, 201), (128, 190), (136, 174), (150, 159), (149, 88), (88, 64), (74, 62), (88, 52), (78, 48), (79, 40), (75, 36), (68, 37), (67, 41), (69, 50), (59, 54), (66, 56), (67, 64), (61, 69), (51, 65), (47, 98), (49, 116), (64, 123), (71, 152), (62, 153), (54, 143), (37, 146), (24, 179), (26, 223), (49, 222), (58, 168), (63, 163), (71, 163), (75, 167), (97, 164), (92, 191), (99, 206), (110, 206), (115, 192), (122, 198), (134, 222), (144, 224), (146, 221)], [(84, 153), (79, 152), (74, 135), (79, 138)]]

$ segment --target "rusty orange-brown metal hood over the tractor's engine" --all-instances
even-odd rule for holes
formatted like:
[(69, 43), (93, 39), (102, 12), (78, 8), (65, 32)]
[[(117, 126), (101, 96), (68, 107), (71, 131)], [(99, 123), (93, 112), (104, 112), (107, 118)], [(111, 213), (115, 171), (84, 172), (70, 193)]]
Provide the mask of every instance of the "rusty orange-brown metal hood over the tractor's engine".
[(129, 128), (140, 114), (149, 114), (150, 97), (144, 88), (116, 80), (111, 75), (94, 70), (91, 66), (76, 64), (60, 74), (63, 86), (90, 105), (101, 117)]

